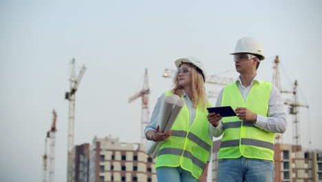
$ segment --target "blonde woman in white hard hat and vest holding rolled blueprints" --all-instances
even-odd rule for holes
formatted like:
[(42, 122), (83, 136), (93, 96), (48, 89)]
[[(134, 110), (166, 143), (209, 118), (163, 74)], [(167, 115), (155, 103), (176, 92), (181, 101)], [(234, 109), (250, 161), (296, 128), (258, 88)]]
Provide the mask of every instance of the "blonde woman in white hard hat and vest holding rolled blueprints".
[[(206, 181), (213, 134), (206, 118), (206, 108), (211, 105), (204, 88), (205, 69), (193, 57), (178, 59), (175, 65), (174, 88), (159, 97), (144, 132), (148, 140), (164, 141), (155, 162), (159, 182)], [(185, 104), (171, 130), (160, 132), (157, 123), (161, 101), (170, 94), (177, 94)]]

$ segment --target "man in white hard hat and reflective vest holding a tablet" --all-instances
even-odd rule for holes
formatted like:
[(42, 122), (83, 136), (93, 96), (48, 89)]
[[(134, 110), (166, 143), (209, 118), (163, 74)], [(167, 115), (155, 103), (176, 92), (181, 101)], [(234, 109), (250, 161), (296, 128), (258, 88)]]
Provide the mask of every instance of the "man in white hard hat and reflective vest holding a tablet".
[(281, 92), (259, 79), (264, 46), (252, 37), (237, 41), (232, 53), (239, 77), (219, 93), (216, 106), (230, 105), (237, 117), (210, 113), (215, 137), (222, 136), (217, 181), (274, 181), (275, 133), (286, 130)]

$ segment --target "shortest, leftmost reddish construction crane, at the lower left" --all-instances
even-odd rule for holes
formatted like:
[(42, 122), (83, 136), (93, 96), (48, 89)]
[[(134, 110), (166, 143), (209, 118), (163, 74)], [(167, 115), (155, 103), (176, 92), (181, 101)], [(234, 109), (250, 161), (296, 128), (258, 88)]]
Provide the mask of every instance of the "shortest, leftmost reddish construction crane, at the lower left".
[[(43, 182), (47, 181), (47, 173), (49, 172), (49, 182), (54, 182), (54, 172), (55, 172), (55, 143), (56, 143), (56, 111), (52, 111), (52, 127), (46, 133), (45, 138), (45, 154), (43, 155)], [(47, 155), (47, 139), (50, 139), (50, 153)], [(49, 159), (49, 170), (47, 171), (47, 159)]]

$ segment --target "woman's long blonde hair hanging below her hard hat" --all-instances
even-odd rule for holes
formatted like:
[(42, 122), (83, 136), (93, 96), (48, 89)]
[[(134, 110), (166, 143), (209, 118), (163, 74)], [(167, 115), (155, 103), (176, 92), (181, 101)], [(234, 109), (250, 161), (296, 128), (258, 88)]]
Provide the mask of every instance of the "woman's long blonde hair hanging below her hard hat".
[[(205, 109), (208, 105), (208, 101), (206, 98), (206, 89), (204, 88), (204, 78), (200, 72), (195, 70), (195, 65), (191, 65), (191, 63), (188, 63), (188, 65), (191, 67), (191, 101), (193, 102), (193, 108), (197, 108), (197, 105), (199, 104), (202, 109)], [(179, 85), (177, 74), (175, 74), (175, 77), (173, 78), (173, 89), (171, 92), (182, 97), (182, 90), (183, 87)]]

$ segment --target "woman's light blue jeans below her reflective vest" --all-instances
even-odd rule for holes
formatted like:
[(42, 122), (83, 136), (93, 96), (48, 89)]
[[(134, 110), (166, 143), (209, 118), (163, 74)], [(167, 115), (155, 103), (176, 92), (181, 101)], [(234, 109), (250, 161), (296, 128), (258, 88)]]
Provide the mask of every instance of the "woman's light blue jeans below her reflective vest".
[(178, 167), (161, 166), (156, 169), (158, 182), (197, 182), (191, 172)]

